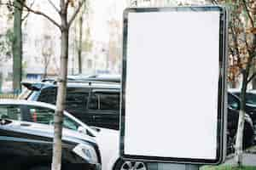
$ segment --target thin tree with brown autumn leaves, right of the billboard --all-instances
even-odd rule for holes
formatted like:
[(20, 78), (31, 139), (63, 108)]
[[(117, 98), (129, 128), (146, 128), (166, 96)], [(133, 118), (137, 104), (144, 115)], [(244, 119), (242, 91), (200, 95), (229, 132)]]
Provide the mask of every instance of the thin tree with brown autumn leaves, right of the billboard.
[(224, 3), (230, 9), (230, 56), (235, 62), (234, 67), (241, 76), (241, 103), (239, 111), (238, 127), (236, 131), (235, 156), (236, 164), (242, 165), (242, 145), (244, 132), (244, 117), (248, 83), (256, 76), (253, 67), (256, 56), (256, 2), (251, 0), (224, 0), (214, 3)]

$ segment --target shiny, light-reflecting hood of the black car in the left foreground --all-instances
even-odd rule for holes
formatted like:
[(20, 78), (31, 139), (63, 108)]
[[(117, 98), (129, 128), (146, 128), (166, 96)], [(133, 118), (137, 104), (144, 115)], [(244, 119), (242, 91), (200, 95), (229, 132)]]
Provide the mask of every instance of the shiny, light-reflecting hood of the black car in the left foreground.
[[(42, 136), (49, 139), (49, 142), (52, 141), (54, 136), (54, 127), (51, 125), (44, 125), (40, 123), (33, 122), (19, 122), (11, 120), (11, 123), (1, 127), (5, 130), (17, 132), (17, 133), (27, 133), (37, 136)], [(67, 128), (62, 129), (62, 140), (65, 142), (71, 143), (96, 143), (95, 139), (92, 139), (88, 135), (84, 135), (83, 133), (78, 133), (73, 130), (69, 130)]]

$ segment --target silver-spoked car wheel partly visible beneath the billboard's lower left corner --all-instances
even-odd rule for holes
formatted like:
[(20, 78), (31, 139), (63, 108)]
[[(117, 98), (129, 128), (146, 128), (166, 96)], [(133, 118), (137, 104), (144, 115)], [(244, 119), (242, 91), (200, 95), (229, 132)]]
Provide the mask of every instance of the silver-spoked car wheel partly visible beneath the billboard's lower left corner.
[(123, 161), (119, 160), (114, 170), (148, 170), (148, 166), (143, 161)]

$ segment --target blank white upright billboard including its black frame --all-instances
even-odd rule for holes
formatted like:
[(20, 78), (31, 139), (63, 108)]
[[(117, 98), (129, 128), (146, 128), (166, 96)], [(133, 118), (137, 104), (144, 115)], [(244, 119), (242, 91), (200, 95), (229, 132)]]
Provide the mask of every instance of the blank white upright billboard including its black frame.
[(226, 121), (226, 11), (124, 12), (120, 155), (218, 164)]

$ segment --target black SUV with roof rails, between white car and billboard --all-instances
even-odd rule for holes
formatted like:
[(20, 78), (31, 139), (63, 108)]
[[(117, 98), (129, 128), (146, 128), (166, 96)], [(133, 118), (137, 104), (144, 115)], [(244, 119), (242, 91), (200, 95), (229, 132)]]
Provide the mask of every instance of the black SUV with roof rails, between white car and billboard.
[[(55, 105), (55, 82), (22, 82), (28, 89), (20, 99), (46, 102)], [(119, 128), (118, 82), (71, 81), (67, 82), (66, 111), (89, 126)]]

